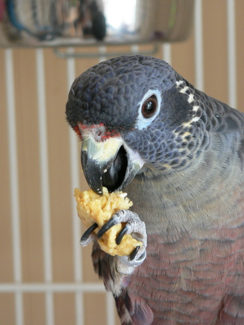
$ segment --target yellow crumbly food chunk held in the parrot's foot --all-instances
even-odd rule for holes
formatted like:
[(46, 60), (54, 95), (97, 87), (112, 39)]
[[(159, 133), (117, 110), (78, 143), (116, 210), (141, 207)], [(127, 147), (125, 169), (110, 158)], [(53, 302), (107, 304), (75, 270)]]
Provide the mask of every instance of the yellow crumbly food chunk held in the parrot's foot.
[[(77, 202), (78, 216), (87, 228), (96, 222), (99, 225), (95, 230), (97, 234), (114, 213), (118, 210), (129, 209), (133, 205), (126, 195), (122, 191), (109, 193), (106, 187), (103, 187), (103, 196), (99, 196), (92, 189), (82, 192), (75, 188), (74, 197)], [(142, 245), (142, 242), (127, 234), (117, 245), (115, 239), (122, 228), (122, 223), (116, 224), (103, 235), (102, 239), (98, 239), (102, 250), (110, 255), (124, 256), (129, 255), (136, 246)]]

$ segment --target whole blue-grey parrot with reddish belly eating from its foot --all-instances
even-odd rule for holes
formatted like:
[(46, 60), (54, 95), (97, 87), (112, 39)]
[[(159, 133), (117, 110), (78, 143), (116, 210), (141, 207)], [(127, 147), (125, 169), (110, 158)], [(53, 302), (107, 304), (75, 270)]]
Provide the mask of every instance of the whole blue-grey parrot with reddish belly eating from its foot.
[[(66, 119), (100, 196), (133, 201), (95, 234), (95, 272), (122, 325), (244, 324), (244, 113), (196, 89), (166, 61), (107, 59), (78, 76)], [(142, 242), (112, 256), (97, 240), (119, 222)]]

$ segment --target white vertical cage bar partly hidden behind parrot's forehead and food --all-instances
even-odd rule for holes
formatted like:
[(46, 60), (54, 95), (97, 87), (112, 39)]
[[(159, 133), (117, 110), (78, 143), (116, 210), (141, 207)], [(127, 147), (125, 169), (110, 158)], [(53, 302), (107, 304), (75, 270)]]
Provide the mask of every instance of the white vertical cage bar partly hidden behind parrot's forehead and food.
[[(68, 53), (73, 53), (73, 48), (68, 48)], [(69, 57), (67, 59), (67, 88), (68, 92), (75, 80), (75, 59)], [(73, 222), (73, 256), (74, 256), (74, 280), (75, 282), (81, 282), (83, 279), (82, 274), (82, 249), (79, 245), (80, 237), (80, 220), (77, 217), (76, 204), (73, 197), (75, 187), (79, 187), (79, 153), (77, 147), (77, 138), (72, 129), (69, 129), (70, 139), (70, 175), (71, 175), (71, 202), (72, 202), (72, 222)], [(76, 312), (76, 325), (84, 324), (84, 304), (83, 293), (77, 291), (75, 293), (75, 312)]]

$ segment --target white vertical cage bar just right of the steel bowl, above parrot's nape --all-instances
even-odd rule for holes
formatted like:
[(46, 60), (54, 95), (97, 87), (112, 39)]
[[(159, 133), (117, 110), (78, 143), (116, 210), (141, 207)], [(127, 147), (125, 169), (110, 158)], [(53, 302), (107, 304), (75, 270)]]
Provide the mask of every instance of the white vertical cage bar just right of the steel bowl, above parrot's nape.
[(194, 12), (194, 39), (195, 39), (195, 86), (199, 90), (204, 90), (203, 73), (203, 37), (202, 37), (202, 0), (195, 1)]

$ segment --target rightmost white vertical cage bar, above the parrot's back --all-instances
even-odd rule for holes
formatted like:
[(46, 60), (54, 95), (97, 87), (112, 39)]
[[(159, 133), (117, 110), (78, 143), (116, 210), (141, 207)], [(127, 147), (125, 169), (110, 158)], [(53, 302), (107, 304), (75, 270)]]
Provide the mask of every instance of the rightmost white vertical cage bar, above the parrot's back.
[(235, 2), (227, 0), (227, 46), (228, 46), (228, 100), (236, 108), (236, 40), (235, 40)]

